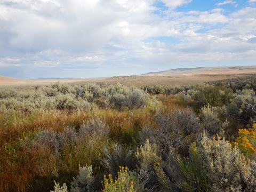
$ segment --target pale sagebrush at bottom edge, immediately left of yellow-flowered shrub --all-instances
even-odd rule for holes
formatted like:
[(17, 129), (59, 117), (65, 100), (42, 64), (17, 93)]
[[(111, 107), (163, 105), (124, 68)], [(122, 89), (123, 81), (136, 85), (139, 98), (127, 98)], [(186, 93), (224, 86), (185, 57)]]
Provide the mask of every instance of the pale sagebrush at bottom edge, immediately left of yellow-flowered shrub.
[(95, 178), (92, 176), (92, 165), (79, 165), (79, 174), (71, 182), (71, 192), (91, 192)]

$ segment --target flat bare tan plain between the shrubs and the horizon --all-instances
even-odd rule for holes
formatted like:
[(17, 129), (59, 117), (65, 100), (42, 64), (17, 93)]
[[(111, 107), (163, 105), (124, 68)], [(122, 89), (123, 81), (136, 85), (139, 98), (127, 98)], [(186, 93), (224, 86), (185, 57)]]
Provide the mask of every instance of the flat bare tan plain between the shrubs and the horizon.
[(10, 78), (5, 76), (0, 76), (0, 89), (3, 87), (13, 87), (18, 91), (30, 91), (35, 90), (35, 86), (46, 86), (51, 83), (68, 83), (68, 84), (79, 84), (84, 85), (87, 82), (102, 84), (103, 87), (122, 83), (126, 86), (141, 86), (143, 84), (147, 85), (187, 85), (195, 83), (204, 83), (209, 81), (218, 81), (222, 79), (244, 77), (248, 75), (256, 74), (256, 67), (254, 68), (234, 68), (234, 70), (228, 68), (214, 68), (205, 69), (201, 71), (193, 71), (192, 73), (182, 74), (182, 75), (142, 75), (142, 76), (115, 76), (110, 78), (79, 78), (79, 79), (18, 79)]

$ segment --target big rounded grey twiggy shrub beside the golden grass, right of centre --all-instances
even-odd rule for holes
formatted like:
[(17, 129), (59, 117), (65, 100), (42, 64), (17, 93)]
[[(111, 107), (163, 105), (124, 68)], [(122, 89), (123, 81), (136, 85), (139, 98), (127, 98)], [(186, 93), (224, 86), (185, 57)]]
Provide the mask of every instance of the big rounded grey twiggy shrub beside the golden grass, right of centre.
[(140, 143), (146, 138), (150, 143), (168, 149), (169, 146), (176, 148), (187, 147), (190, 142), (196, 140), (196, 135), (202, 132), (199, 118), (196, 117), (193, 109), (175, 109), (171, 113), (157, 111), (154, 118), (157, 128), (150, 125), (143, 125), (139, 133)]

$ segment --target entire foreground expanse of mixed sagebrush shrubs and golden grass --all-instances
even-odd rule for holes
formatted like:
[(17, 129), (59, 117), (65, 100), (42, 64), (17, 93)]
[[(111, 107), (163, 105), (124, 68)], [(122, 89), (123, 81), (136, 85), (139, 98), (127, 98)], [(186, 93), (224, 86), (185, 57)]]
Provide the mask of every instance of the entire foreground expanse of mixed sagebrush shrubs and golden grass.
[(0, 191), (254, 191), (255, 82), (1, 89)]

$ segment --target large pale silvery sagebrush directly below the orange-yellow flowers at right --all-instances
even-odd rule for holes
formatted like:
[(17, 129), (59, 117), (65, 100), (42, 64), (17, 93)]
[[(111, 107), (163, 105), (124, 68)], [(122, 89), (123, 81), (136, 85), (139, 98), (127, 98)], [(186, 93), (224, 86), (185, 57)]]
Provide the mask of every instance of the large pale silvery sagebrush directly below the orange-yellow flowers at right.
[(246, 161), (237, 146), (231, 147), (220, 137), (215, 140), (202, 137), (195, 148), (211, 180), (213, 191), (253, 191), (256, 187), (255, 161)]

